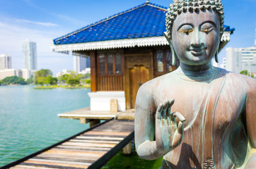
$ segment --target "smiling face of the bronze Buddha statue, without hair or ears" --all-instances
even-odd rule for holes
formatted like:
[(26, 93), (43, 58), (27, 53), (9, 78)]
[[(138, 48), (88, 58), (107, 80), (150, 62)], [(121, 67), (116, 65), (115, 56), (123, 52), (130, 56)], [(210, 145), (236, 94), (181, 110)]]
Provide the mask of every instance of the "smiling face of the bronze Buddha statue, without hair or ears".
[(218, 50), (220, 23), (214, 11), (181, 13), (173, 23), (173, 48), (182, 63), (204, 65)]

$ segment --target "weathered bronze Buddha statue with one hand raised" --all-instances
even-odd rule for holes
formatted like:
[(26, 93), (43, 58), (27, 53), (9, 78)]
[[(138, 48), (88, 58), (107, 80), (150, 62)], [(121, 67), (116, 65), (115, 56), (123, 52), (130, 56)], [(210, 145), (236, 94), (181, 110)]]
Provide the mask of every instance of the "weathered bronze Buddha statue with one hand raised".
[[(139, 88), (135, 146), (161, 168), (256, 168), (256, 80), (211, 65), (223, 34), (220, 0), (178, 0), (165, 37), (180, 67)], [(160, 167), (160, 166), (159, 166)]]

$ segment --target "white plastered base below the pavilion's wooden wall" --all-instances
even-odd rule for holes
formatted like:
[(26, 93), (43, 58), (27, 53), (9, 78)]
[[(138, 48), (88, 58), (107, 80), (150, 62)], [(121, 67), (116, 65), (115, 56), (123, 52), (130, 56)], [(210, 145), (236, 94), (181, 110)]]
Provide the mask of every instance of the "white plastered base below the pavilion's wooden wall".
[(110, 111), (110, 99), (117, 99), (118, 111), (125, 111), (124, 92), (90, 92), (91, 111)]

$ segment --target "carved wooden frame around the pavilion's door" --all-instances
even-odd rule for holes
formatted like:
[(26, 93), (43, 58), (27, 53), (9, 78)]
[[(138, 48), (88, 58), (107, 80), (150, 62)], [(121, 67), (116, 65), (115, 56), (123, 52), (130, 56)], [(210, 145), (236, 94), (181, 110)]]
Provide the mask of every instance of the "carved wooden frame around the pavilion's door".
[(129, 69), (134, 65), (144, 65), (149, 68), (149, 80), (153, 79), (153, 54), (125, 54), (124, 55), (124, 92), (126, 109), (131, 109), (131, 94)]

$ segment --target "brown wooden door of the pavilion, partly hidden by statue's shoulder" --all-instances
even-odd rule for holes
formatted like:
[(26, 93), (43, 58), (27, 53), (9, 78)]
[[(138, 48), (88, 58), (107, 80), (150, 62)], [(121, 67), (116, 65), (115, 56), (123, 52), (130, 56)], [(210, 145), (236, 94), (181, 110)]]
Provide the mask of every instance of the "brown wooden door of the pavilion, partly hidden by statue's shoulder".
[(136, 94), (144, 82), (149, 81), (149, 68), (144, 65), (136, 65), (129, 69), (131, 108), (135, 108)]

